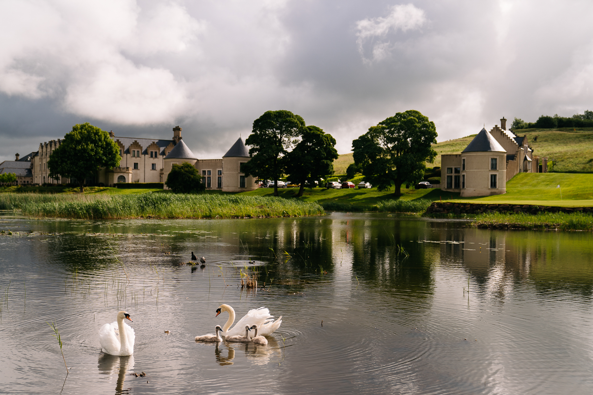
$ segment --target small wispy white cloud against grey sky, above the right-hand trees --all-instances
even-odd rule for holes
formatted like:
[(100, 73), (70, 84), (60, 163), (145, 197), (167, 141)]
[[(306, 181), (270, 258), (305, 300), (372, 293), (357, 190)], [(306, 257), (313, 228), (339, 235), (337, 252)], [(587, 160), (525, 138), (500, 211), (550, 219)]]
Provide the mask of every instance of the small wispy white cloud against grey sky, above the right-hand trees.
[(425, 12), (416, 8), (413, 4), (400, 4), (391, 7), (387, 17), (366, 18), (356, 22), (356, 44), (358, 51), (365, 63), (377, 62), (387, 57), (390, 52), (390, 44), (385, 41), (374, 43), (372, 47), (372, 59), (365, 57), (364, 44), (375, 37), (385, 37), (390, 32), (397, 30), (408, 31), (422, 27), (426, 23)]

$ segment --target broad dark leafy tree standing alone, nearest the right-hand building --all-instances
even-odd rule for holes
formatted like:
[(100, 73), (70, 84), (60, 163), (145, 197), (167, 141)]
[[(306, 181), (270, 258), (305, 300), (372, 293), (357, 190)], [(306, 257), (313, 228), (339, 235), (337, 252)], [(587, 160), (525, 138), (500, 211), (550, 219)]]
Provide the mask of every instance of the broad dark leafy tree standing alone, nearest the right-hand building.
[(435, 124), (419, 111), (408, 110), (370, 127), (354, 140), (354, 162), (380, 191), (389, 190), (394, 184), (394, 194), (400, 196), (401, 184), (422, 180), (425, 162), (432, 163), (436, 157), (433, 143)]

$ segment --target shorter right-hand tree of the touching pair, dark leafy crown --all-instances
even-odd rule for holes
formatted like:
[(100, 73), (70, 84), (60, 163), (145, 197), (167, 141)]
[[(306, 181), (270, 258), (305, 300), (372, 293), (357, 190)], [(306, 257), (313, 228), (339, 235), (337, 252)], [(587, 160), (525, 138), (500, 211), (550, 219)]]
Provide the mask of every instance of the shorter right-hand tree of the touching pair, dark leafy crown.
[(286, 174), (301, 184), (298, 197), (305, 190), (305, 181), (315, 185), (333, 172), (333, 161), (338, 157), (335, 145), (336, 139), (317, 126), (302, 129), (301, 141), (286, 154)]

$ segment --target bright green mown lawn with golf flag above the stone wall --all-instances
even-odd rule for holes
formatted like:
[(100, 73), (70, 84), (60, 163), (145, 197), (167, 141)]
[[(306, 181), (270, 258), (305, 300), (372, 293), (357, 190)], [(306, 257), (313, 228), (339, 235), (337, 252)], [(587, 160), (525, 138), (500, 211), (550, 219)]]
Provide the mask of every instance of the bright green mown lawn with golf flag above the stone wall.
[[(560, 185), (560, 188), (557, 188)], [(519, 173), (506, 183), (506, 194), (458, 198), (456, 202), (593, 206), (593, 174)], [(560, 200), (562, 190), (562, 200)]]

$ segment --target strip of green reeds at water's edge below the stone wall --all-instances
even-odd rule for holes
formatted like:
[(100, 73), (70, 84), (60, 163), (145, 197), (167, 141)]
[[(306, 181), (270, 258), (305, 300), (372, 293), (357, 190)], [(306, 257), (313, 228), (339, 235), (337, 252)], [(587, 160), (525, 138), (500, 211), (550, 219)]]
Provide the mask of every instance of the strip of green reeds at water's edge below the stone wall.
[(479, 214), (471, 226), (490, 229), (593, 230), (588, 213)]

